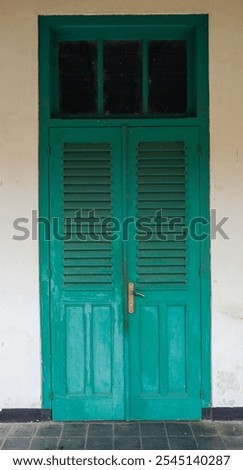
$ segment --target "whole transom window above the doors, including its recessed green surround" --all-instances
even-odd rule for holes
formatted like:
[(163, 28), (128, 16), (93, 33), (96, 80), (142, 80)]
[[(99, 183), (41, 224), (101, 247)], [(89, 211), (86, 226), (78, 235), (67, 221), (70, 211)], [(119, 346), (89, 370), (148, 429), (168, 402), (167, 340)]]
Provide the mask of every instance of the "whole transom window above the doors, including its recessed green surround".
[(48, 118), (182, 122), (205, 114), (200, 15), (49, 22)]

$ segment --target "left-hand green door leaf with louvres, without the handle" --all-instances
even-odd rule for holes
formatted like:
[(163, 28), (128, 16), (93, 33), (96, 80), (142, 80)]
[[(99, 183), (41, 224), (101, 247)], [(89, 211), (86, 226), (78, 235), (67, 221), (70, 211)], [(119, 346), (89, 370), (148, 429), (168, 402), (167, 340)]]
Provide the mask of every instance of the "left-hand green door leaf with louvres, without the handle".
[(54, 129), (51, 149), (53, 417), (123, 419), (121, 241), (100, 222), (121, 219), (120, 130)]

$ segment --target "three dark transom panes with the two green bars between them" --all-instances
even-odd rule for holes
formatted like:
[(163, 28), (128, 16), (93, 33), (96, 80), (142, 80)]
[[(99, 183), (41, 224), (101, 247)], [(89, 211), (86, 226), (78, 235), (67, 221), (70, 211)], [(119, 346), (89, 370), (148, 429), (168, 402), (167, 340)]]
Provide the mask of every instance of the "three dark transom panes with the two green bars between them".
[(185, 115), (185, 40), (60, 41), (60, 116)]

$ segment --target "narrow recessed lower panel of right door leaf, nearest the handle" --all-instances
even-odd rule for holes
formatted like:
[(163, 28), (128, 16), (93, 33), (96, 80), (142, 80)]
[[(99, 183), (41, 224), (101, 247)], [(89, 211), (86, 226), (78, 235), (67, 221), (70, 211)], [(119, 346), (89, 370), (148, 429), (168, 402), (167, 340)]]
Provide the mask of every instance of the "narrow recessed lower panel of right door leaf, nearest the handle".
[(160, 392), (159, 349), (159, 309), (158, 307), (141, 307), (140, 373), (142, 394), (156, 395)]

